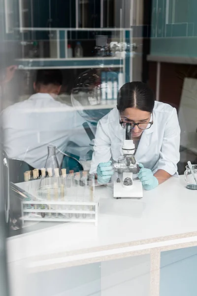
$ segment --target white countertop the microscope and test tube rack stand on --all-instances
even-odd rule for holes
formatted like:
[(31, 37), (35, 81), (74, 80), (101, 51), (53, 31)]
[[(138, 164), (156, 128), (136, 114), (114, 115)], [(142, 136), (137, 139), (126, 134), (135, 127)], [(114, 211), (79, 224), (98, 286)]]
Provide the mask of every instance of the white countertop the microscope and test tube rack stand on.
[[(110, 186), (96, 187), (99, 224), (60, 223), (11, 237), (8, 261), (33, 258), (32, 267), (71, 264), (113, 254), (197, 241), (197, 190), (172, 177), (141, 200), (112, 197)], [(74, 263), (73, 263), (74, 264)]]

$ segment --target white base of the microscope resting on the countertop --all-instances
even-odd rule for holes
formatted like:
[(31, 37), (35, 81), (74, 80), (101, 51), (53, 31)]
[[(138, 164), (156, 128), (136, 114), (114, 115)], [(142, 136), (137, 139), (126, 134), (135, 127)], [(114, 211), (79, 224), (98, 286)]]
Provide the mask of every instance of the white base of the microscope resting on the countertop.
[(139, 180), (133, 181), (133, 185), (129, 189), (123, 187), (122, 182), (114, 182), (114, 198), (132, 198), (140, 199), (143, 197), (142, 183)]

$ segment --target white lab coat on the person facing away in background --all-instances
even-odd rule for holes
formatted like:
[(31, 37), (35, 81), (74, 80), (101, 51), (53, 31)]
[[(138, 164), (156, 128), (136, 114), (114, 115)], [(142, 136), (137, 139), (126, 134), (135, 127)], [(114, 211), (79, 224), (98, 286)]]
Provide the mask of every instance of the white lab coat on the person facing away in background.
[[(77, 111), (55, 100), (49, 94), (37, 93), (28, 100), (2, 111), (3, 148), (9, 158), (26, 161), (35, 168), (45, 166), (47, 146), (66, 151), (68, 141), (80, 147), (89, 146)], [(57, 151), (59, 164), (63, 154)]]

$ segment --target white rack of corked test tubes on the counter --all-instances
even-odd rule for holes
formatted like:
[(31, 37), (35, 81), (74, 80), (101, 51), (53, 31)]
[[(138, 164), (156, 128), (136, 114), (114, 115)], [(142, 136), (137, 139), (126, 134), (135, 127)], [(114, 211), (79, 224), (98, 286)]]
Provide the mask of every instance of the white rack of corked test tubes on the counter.
[(99, 201), (95, 198), (94, 186), (65, 186), (63, 190), (52, 185), (48, 186), (48, 189), (39, 190), (37, 183), (38, 180), (17, 184), (26, 196), (22, 201), (23, 223), (92, 222), (97, 226)]

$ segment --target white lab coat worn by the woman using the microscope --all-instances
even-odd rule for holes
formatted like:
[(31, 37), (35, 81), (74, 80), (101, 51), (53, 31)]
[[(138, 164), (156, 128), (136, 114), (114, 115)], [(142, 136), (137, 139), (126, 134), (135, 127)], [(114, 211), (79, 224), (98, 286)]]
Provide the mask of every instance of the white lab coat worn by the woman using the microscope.
[[(142, 133), (135, 153), (136, 161), (153, 173), (162, 169), (174, 175), (180, 159), (180, 127), (176, 109), (155, 102), (153, 122), (151, 128)], [(111, 158), (117, 161), (123, 155), (124, 140), (125, 129), (119, 123), (118, 110), (114, 108), (98, 123), (90, 173), (97, 172), (100, 162), (108, 162)]]

